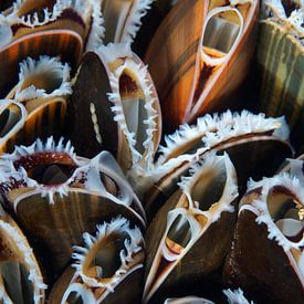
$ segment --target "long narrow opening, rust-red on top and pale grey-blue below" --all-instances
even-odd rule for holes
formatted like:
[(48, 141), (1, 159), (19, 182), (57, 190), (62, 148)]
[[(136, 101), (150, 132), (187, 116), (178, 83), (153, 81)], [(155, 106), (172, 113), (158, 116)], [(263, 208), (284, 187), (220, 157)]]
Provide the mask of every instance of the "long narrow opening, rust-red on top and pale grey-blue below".
[(145, 95), (128, 71), (124, 71), (119, 77), (119, 93), (127, 128), (135, 134), (135, 148), (144, 154), (145, 147), (143, 144), (147, 137), (147, 126), (144, 122), (148, 118), (145, 108)]

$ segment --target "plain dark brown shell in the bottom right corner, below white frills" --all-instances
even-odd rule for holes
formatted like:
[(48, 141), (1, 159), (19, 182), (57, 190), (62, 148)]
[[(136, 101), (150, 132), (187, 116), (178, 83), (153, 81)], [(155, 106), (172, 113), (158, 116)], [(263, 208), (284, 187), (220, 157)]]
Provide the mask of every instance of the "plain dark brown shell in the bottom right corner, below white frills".
[(303, 286), (287, 255), (255, 219), (249, 210), (239, 214), (224, 264), (226, 283), (240, 286), (256, 303), (303, 303)]

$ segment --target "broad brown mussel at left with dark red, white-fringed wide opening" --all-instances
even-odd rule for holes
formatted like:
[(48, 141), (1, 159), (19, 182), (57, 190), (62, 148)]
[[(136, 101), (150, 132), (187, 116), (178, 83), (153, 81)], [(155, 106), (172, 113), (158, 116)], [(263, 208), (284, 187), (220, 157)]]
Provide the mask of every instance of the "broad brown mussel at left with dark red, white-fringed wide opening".
[(44, 258), (51, 281), (69, 263), (71, 247), (101, 220), (118, 213), (145, 227), (143, 207), (115, 159), (103, 151), (88, 160), (73, 150), (70, 141), (55, 145), (50, 137), (0, 159), (3, 202)]

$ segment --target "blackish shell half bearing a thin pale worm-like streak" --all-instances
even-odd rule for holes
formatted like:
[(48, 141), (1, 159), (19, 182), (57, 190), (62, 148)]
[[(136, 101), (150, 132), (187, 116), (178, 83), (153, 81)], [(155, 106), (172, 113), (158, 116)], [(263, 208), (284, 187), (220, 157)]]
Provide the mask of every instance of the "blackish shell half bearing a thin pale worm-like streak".
[[(117, 155), (118, 129), (111, 111), (113, 104), (106, 95), (109, 92), (108, 76), (102, 61), (96, 53), (87, 52), (77, 72), (65, 124), (66, 136), (82, 156), (93, 157), (102, 149)], [(102, 143), (96, 139), (91, 103), (101, 126)]]

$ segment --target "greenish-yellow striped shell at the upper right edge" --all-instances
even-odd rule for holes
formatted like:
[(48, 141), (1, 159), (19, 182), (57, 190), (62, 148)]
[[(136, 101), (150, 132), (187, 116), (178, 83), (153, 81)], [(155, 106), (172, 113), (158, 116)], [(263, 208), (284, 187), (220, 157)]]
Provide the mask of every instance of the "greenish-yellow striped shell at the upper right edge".
[(294, 145), (303, 145), (303, 45), (283, 25), (263, 21), (260, 24), (256, 63), (262, 111), (272, 116), (285, 115)]

